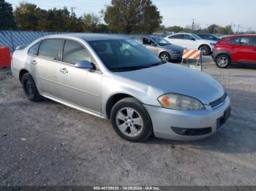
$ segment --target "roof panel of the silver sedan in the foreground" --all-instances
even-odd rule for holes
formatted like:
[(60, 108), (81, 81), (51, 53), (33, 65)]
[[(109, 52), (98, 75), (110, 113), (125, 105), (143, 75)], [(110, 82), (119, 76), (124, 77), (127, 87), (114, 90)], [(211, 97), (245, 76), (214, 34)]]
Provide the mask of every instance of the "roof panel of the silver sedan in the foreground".
[(86, 34), (86, 33), (72, 33), (72, 34), (53, 34), (44, 36), (45, 39), (48, 38), (79, 38), (86, 41), (94, 40), (109, 40), (109, 39), (127, 39), (127, 36), (116, 35), (116, 34)]

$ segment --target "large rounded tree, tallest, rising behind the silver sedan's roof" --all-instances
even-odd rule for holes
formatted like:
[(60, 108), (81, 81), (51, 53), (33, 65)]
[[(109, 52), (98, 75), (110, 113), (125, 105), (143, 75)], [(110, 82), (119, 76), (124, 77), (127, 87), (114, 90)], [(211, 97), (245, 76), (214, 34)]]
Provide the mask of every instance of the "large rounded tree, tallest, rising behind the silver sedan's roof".
[(151, 34), (159, 28), (162, 16), (151, 0), (112, 0), (104, 20), (110, 31)]

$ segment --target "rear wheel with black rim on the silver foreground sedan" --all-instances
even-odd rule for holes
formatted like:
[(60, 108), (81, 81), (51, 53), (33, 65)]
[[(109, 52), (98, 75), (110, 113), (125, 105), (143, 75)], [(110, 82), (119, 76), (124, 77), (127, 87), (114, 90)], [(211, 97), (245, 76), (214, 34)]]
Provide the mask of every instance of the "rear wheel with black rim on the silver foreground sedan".
[(26, 73), (21, 78), (21, 84), (23, 85), (24, 93), (26, 97), (31, 101), (40, 101), (42, 100), (42, 95), (39, 94), (37, 90), (37, 85), (34, 82), (31, 74)]

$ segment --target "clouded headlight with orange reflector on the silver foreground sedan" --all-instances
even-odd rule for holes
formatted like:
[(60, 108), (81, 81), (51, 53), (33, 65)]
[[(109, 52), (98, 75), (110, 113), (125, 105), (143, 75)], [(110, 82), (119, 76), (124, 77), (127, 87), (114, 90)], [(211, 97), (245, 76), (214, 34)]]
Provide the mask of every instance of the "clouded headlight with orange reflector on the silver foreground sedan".
[(206, 109), (196, 98), (175, 93), (161, 95), (158, 98), (159, 103), (168, 109), (177, 110), (203, 110)]

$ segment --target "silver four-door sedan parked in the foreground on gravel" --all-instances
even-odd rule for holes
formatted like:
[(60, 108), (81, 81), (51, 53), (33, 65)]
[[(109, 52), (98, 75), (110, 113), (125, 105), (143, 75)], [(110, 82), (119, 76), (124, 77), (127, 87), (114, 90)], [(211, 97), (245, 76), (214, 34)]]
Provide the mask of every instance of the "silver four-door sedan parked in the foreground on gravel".
[(111, 119), (129, 141), (192, 140), (230, 116), (225, 88), (201, 71), (163, 63), (132, 39), (105, 34), (44, 36), (12, 56), (31, 101), (42, 97)]

